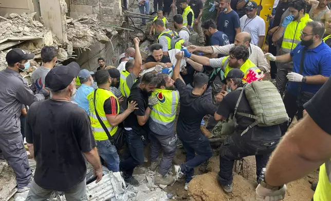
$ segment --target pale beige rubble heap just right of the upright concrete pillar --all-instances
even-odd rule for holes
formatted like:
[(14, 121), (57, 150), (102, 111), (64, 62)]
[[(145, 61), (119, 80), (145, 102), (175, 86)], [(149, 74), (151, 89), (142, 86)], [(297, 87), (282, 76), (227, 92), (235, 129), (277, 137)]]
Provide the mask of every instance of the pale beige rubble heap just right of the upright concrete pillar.
[[(100, 27), (96, 17), (81, 17), (73, 19), (67, 17), (67, 36), (68, 41), (72, 43), (73, 48), (88, 48), (94, 45), (94, 38), (100, 43), (107, 43), (110, 39), (106, 36)], [(108, 29), (107, 29), (108, 31)], [(116, 35), (112, 29), (109, 29), (113, 35)]]

